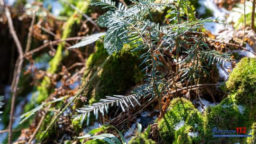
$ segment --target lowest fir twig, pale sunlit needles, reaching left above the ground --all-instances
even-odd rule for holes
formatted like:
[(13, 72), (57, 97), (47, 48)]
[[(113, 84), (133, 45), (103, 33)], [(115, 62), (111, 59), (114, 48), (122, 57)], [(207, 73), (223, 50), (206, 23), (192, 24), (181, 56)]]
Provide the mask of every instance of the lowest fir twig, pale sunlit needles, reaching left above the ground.
[(93, 113), (96, 119), (99, 117), (99, 113), (104, 116), (105, 113), (108, 113), (108, 109), (112, 107), (114, 104), (116, 106), (120, 106), (122, 111), (125, 111), (125, 108), (128, 108), (129, 105), (135, 107), (134, 103), (136, 102), (138, 105), (139, 99), (142, 96), (148, 95), (151, 91), (151, 86), (144, 84), (137, 87), (133, 94), (128, 96), (114, 95), (114, 96), (106, 96), (105, 99), (100, 99), (99, 102), (93, 103), (91, 106), (83, 106), (82, 108), (76, 109), (79, 113), (78, 115), (74, 115), (75, 119), (80, 119), (82, 122), (85, 117), (87, 117), (87, 125), (89, 125), (90, 114)]

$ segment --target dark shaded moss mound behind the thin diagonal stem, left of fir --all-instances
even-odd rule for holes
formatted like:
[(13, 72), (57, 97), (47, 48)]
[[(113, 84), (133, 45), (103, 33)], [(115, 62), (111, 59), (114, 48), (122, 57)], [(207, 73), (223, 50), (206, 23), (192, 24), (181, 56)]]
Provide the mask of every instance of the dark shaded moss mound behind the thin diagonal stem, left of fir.
[[(96, 52), (90, 55), (86, 63), (86, 79), (90, 79), (108, 57), (101, 42), (97, 42), (95, 47)], [(136, 83), (143, 81), (144, 73), (138, 68), (141, 63), (138, 58), (142, 52), (131, 52), (135, 47), (136, 45), (126, 44), (119, 53), (111, 55), (110, 60), (87, 90), (86, 95), (89, 96), (90, 103), (106, 95), (124, 95)]]

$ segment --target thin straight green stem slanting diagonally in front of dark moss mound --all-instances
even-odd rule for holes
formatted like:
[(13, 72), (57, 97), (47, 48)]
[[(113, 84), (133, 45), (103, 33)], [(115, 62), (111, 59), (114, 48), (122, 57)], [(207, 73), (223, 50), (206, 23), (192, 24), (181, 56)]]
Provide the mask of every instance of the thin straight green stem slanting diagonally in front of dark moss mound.
[(104, 63), (101, 64), (101, 67), (97, 70), (97, 72), (95, 72), (92, 75), (91, 79), (89, 81), (87, 81), (87, 83), (82, 87), (81, 90), (78, 91), (78, 93), (73, 97), (73, 99), (69, 103), (67, 103), (66, 106), (56, 115), (54, 120), (51, 121), (51, 123), (47, 126), (46, 130), (43, 132), (43, 135), (40, 137), (41, 140), (44, 138), (44, 136), (50, 130), (50, 128), (54, 125), (57, 118), (60, 117), (63, 114), (63, 112), (82, 94), (82, 92), (85, 90), (85, 88), (89, 86), (91, 81), (94, 80), (95, 76), (100, 72), (100, 70), (109, 61), (109, 59), (110, 59), (110, 56), (108, 56), (108, 58), (104, 61)]

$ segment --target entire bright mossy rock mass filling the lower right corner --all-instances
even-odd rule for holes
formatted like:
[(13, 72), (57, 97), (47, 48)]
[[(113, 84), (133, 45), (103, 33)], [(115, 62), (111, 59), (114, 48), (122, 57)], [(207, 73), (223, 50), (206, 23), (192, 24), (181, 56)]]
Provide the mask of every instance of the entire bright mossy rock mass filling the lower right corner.
[[(170, 110), (158, 123), (161, 139), (166, 144), (255, 144), (256, 58), (242, 59), (230, 74), (227, 87), (229, 96), (207, 108), (203, 115), (190, 101), (173, 99)], [(213, 137), (228, 135), (217, 130), (232, 130), (230, 135), (237, 135), (236, 127), (252, 129), (253, 136)]]

